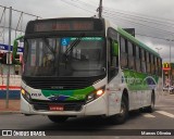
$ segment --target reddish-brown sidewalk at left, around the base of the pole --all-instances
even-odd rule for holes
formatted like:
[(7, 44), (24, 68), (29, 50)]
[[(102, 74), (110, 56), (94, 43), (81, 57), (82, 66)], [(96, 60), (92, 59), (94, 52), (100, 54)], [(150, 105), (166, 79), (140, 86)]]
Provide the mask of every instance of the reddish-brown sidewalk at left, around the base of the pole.
[(0, 99), (0, 114), (20, 113), (20, 100), (9, 100), (9, 109), (5, 108), (5, 103), (4, 99)]

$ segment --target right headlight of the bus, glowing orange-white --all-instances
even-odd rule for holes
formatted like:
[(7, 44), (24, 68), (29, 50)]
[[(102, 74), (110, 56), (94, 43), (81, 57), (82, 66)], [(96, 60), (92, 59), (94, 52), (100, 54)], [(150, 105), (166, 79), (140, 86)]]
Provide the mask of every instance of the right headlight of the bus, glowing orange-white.
[(87, 96), (86, 103), (88, 103), (88, 102), (90, 102), (90, 101), (92, 101), (92, 100), (99, 98), (99, 97), (102, 96), (103, 93), (104, 93), (104, 88), (98, 89), (98, 90), (96, 90), (96, 91), (89, 93), (89, 94)]

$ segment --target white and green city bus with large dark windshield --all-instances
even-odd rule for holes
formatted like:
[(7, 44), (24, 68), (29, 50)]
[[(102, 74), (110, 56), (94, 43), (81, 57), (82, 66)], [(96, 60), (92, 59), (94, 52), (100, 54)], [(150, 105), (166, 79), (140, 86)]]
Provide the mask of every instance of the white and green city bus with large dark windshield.
[(128, 112), (154, 110), (162, 59), (104, 18), (28, 22), (24, 37), (21, 112), (54, 123), (101, 115), (124, 123)]

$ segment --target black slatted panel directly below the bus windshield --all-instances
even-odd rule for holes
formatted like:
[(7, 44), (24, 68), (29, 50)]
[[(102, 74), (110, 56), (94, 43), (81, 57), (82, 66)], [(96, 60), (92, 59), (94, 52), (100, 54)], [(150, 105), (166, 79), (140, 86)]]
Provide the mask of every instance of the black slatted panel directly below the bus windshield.
[[(91, 86), (101, 77), (71, 78), (71, 77), (23, 77), (27, 86), (35, 89), (74, 90)], [(103, 78), (103, 77), (102, 77)]]

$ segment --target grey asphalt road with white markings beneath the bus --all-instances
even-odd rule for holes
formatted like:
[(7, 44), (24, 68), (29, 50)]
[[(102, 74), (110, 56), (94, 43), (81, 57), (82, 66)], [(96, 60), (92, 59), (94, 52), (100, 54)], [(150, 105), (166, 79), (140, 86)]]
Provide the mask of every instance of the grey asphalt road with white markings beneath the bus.
[[(123, 125), (112, 125), (109, 119), (103, 121), (100, 117), (77, 117), (70, 118), (63, 124), (54, 124), (50, 122), (47, 116), (3, 114), (0, 115), (0, 129), (42, 130), (46, 131), (46, 137), (42, 138), (50, 138), (48, 135), (52, 135), (51, 138), (60, 137), (65, 139), (78, 139), (82, 137), (90, 139), (163, 139), (164, 136), (135, 135), (141, 134), (141, 131), (170, 132), (170, 129), (173, 129), (174, 132), (174, 94), (162, 96), (160, 101), (157, 102), (156, 111), (151, 114), (145, 112), (130, 112), (128, 121)], [(172, 139), (173, 137), (165, 136), (165, 138), (169, 139)]]

